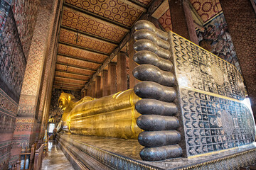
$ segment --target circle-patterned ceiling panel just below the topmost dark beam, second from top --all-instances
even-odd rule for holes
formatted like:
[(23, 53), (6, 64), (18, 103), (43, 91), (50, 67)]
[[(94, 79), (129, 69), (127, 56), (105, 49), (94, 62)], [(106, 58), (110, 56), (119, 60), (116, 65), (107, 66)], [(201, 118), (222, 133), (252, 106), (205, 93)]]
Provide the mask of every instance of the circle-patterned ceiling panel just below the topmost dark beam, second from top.
[(62, 25), (115, 42), (122, 40), (122, 37), (129, 32), (129, 30), (125, 28), (114, 26), (112, 23), (107, 23), (106, 21), (102, 21), (68, 7), (64, 7), (63, 9)]

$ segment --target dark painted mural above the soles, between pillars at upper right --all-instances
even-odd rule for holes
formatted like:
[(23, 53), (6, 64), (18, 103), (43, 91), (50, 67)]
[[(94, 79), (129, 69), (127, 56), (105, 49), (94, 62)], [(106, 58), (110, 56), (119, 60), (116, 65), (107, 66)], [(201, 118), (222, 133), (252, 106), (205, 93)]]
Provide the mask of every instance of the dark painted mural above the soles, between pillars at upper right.
[(238, 57), (235, 53), (228, 25), (223, 13), (206, 23), (202, 28), (196, 29), (199, 45), (223, 60), (235, 65), (241, 73)]

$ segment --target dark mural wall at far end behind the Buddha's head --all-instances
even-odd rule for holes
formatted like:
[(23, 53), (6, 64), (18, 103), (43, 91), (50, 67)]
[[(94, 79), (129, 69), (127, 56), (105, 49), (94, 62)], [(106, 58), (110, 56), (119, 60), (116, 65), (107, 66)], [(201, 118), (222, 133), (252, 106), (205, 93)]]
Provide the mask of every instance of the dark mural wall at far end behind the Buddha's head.
[(56, 122), (58, 122), (63, 114), (63, 111), (60, 110), (58, 107), (58, 98), (60, 94), (64, 91), (65, 93), (72, 94), (78, 100), (81, 99), (80, 91), (69, 91), (69, 90), (61, 90), (61, 89), (53, 89), (52, 96), (50, 98), (50, 111), (49, 111), (49, 118), (54, 118)]

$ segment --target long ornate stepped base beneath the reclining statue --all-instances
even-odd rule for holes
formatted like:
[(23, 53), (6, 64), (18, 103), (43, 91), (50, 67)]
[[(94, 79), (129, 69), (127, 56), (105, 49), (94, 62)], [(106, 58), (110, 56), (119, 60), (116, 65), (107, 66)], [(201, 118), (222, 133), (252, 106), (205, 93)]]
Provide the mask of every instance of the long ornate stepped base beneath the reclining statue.
[(145, 162), (137, 140), (60, 133), (57, 140), (75, 169), (239, 169), (256, 163), (256, 142), (196, 157)]

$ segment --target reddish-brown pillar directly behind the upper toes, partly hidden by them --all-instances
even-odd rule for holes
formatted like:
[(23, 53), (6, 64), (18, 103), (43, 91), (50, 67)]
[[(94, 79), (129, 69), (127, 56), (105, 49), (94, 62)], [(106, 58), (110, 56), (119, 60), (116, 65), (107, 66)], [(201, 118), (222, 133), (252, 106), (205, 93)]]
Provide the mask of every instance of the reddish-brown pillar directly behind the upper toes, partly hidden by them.
[(133, 48), (133, 44), (134, 44), (135, 40), (134, 38), (131, 38), (131, 40), (129, 40), (129, 46), (128, 46), (128, 55), (129, 55), (129, 89), (133, 89), (135, 84), (139, 83), (139, 81), (137, 79), (135, 79), (135, 77), (132, 74), (132, 70), (137, 67), (136, 62), (134, 62), (133, 60), (133, 56), (135, 54), (135, 50)]

